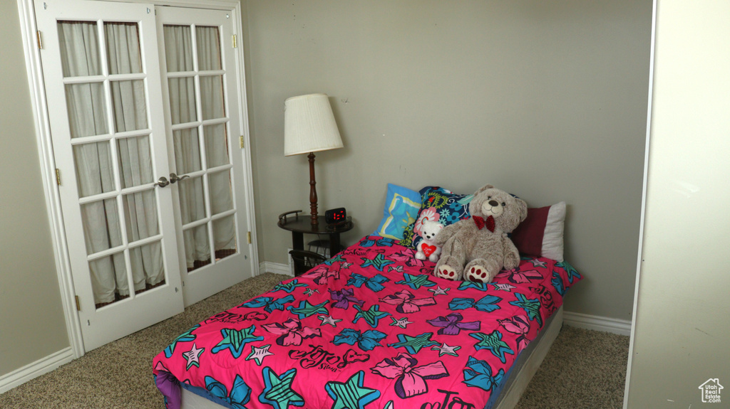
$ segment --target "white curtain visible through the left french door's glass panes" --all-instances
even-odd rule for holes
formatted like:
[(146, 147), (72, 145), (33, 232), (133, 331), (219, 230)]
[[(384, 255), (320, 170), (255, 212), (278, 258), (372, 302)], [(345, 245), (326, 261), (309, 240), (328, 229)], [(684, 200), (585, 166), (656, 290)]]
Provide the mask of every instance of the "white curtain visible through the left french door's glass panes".
[[(61, 63), (64, 76), (102, 74), (96, 23), (58, 24)], [(134, 23), (107, 24), (107, 57), (110, 74), (142, 72), (139, 36)], [(144, 83), (141, 80), (110, 84), (112, 122), (116, 132), (147, 128)], [(69, 127), (72, 138), (104, 135), (110, 132), (101, 82), (66, 86)], [(148, 136), (118, 139), (121, 188), (152, 181), (152, 158)], [(115, 190), (114, 162), (110, 143), (85, 143), (74, 146), (74, 161), (81, 197)], [(126, 233), (129, 242), (158, 234), (155, 192), (147, 190), (123, 196)], [(116, 199), (82, 205), (85, 244), (89, 254), (122, 245), (120, 213)], [(130, 250), (134, 290), (144, 290), (164, 280), (162, 250), (159, 242)], [(129, 294), (123, 253), (89, 263), (95, 303), (115, 301), (115, 293)]]

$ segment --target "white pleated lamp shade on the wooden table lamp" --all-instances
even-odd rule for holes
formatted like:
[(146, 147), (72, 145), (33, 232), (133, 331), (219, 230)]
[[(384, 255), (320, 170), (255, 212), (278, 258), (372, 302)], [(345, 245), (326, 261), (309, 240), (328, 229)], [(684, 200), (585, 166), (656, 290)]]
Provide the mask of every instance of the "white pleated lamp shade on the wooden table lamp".
[(284, 103), (284, 156), (342, 148), (325, 94), (300, 95)]

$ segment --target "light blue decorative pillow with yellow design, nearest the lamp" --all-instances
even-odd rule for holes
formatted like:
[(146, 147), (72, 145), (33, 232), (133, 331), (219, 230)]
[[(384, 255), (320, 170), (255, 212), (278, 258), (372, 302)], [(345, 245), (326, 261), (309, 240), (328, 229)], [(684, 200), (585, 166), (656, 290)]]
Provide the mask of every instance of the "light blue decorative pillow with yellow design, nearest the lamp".
[(400, 240), (406, 226), (415, 221), (420, 210), (420, 194), (410, 188), (388, 183), (388, 194), (385, 196), (383, 220), (374, 231), (377, 236)]

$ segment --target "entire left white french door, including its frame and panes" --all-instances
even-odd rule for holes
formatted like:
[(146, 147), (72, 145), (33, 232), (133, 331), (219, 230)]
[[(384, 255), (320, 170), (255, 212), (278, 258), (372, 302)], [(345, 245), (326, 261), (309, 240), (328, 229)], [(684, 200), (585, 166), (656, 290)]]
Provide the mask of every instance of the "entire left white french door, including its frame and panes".
[(172, 194), (155, 183), (169, 164), (152, 10), (78, 0), (36, 10), (87, 350), (182, 310)]

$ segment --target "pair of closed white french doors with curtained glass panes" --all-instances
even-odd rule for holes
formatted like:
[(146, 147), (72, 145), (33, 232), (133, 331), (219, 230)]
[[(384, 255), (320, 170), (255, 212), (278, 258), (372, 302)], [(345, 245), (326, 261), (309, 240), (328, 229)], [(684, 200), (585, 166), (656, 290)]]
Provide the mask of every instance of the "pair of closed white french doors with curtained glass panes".
[(251, 276), (231, 23), (174, 24), (186, 40), (165, 38), (149, 4), (46, 0), (35, 14), (88, 351)]

